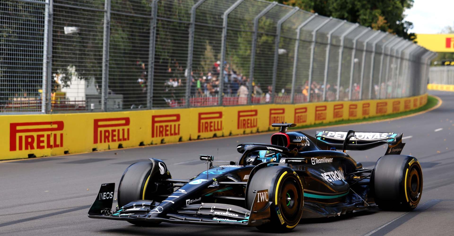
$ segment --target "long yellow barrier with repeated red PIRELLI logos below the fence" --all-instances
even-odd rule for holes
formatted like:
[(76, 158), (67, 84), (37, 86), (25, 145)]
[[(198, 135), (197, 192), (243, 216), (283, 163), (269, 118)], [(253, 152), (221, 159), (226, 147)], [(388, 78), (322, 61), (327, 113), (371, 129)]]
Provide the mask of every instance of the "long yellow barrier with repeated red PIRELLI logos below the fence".
[(0, 144), (0, 159), (251, 134), (274, 130), (271, 124), (282, 121), (301, 126), (356, 120), (409, 111), (426, 102), (427, 94), (400, 99), (292, 105), (0, 116), (4, 139)]

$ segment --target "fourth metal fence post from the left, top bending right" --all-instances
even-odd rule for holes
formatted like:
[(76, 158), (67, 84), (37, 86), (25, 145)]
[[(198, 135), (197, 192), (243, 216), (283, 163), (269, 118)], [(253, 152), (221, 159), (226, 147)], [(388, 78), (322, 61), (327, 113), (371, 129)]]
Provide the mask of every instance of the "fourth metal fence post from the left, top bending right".
[[(191, 97), (191, 83), (192, 83), (192, 53), (194, 51), (194, 31), (196, 26), (196, 10), (197, 7), (202, 5), (206, 0), (199, 0), (196, 4), (191, 7), (191, 23), (189, 24), (189, 39), (188, 39), (188, 62), (186, 65), (186, 107), (191, 106), (189, 104)], [(154, 18), (154, 17), (153, 17)]]

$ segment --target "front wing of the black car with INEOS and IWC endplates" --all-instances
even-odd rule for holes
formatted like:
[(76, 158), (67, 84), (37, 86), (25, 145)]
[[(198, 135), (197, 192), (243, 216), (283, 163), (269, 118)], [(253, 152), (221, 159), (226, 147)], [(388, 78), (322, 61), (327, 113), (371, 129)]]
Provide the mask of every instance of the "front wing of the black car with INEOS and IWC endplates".
[(114, 188), (115, 183), (101, 185), (88, 217), (128, 222), (224, 226), (259, 226), (270, 221), (271, 202), (258, 202), (257, 194), (251, 210), (220, 203), (191, 204), (169, 210), (159, 206), (159, 202), (137, 200), (112, 212)]

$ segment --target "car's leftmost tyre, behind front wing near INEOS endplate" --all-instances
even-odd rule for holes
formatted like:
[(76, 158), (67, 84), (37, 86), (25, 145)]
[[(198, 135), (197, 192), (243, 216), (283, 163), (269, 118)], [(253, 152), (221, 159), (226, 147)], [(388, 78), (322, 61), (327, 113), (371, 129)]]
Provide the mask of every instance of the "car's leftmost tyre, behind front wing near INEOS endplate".
[[(153, 169), (153, 163), (158, 164), (159, 167)], [(162, 163), (162, 164), (161, 164)], [(152, 173), (153, 172), (153, 173)], [(122, 207), (129, 202), (135, 200), (155, 200), (153, 199), (156, 194), (165, 194), (163, 189), (157, 189), (155, 182), (159, 178), (171, 178), (170, 172), (163, 161), (153, 159), (149, 162), (136, 162), (130, 165), (123, 173), (120, 184), (118, 185), (118, 206)], [(161, 222), (130, 222), (137, 226), (157, 226)]]

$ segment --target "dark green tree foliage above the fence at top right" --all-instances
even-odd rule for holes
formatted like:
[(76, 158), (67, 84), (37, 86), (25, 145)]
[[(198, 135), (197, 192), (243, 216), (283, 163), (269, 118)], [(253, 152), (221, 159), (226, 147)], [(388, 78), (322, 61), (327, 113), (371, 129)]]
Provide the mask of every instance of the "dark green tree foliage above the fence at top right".
[(414, 0), (278, 0), (300, 7), (303, 10), (345, 19), (372, 29), (396, 34), (404, 39), (416, 39), (408, 33), (413, 23), (404, 20), (405, 9), (413, 6)]

